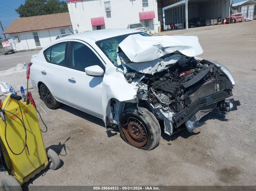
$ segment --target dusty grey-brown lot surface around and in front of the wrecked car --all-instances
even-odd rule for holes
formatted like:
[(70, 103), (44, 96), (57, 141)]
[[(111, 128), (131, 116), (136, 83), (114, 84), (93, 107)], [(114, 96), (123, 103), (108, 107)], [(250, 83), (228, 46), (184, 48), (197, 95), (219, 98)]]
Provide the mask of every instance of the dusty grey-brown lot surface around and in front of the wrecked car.
[(256, 21), (171, 31), (198, 36), (200, 57), (228, 66), (241, 106), (226, 116), (209, 113), (194, 132), (162, 134), (152, 151), (126, 144), (118, 131), (107, 134), (101, 119), (71, 107), (49, 110), (32, 90), (48, 125), (45, 146), (63, 163), (27, 185), (255, 185), (255, 31)]

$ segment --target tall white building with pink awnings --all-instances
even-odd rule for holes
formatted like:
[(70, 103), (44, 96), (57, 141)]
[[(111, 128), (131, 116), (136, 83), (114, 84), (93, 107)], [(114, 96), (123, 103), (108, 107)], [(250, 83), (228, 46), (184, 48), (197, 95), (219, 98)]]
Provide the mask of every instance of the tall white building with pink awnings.
[(141, 22), (158, 33), (157, 0), (67, 0), (72, 26), (78, 32), (127, 28)]

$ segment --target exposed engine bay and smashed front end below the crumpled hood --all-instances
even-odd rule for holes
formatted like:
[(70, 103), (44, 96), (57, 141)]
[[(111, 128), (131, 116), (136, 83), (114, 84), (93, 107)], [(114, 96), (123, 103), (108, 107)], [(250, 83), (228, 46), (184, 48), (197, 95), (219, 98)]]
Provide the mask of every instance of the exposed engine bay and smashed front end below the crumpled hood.
[(124, 74), (128, 83), (139, 87), (136, 95), (138, 108), (148, 107), (162, 119), (168, 135), (184, 123), (189, 131), (203, 125), (199, 120), (216, 108), (231, 111), (240, 105), (239, 101), (225, 100), (232, 96), (233, 85), (221, 67), (207, 60), (179, 56), (180, 59), (171, 67), (153, 75), (148, 74), (149, 70), (142, 73), (128, 67), (126, 70), (130, 72)]

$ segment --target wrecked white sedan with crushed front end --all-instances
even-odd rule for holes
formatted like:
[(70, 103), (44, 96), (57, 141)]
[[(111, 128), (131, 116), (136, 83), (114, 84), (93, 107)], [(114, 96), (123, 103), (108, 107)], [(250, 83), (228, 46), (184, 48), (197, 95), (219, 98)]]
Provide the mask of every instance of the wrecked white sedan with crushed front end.
[(30, 79), (47, 107), (61, 103), (119, 127), (122, 138), (151, 150), (164, 132), (188, 131), (211, 110), (236, 110), (227, 68), (195, 56), (197, 37), (132, 29), (97, 30), (53, 41), (31, 59)]

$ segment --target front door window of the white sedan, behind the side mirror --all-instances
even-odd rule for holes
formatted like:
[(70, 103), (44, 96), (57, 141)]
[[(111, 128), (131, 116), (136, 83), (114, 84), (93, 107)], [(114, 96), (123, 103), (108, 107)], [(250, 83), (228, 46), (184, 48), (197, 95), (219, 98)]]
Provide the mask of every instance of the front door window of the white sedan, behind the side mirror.
[(70, 43), (70, 67), (85, 72), (85, 68), (98, 65), (102, 62), (98, 56), (86, 45), (78, 42)]

